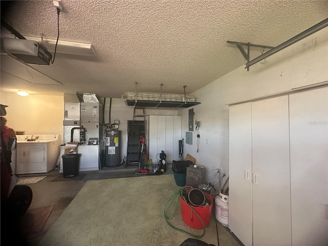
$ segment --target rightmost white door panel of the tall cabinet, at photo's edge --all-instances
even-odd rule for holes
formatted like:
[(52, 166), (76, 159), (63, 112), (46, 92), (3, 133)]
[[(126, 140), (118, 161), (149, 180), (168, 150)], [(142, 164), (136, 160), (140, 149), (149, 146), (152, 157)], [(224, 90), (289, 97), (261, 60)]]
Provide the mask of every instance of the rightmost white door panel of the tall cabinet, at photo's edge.
[(328, 88), (290, 95), (293, 245), (328, 242)]

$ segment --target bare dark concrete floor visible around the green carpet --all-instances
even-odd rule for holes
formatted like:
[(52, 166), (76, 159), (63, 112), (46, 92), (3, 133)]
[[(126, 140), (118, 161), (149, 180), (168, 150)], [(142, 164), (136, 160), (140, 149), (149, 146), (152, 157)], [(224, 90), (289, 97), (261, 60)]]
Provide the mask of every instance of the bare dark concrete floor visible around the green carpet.
[[(43, 238), (46, 232), (50, 229), (52, 224), (57, 220), (60, 214), (67, 208), (70, 202), (73, 200), (75, 195), (80, 191), (80, 189), (85, 185), (88, 180), (97, 179), (107, 179), (107, 178), (120, 178), (120, 177), (132, 177), (140, 174), (135, 174), (137, 166), (130, 166), (124, 168), (124, 166), (119, 166), (115, 168), (104, 167), (101, 171), (88, 171), (80, 172), (79, 175), (86, 174), (81, 180), (74, 181), (56, 181), (50, 182), (54, 178), (63, 175), (59, 173), (59, 170), (52, 170), (47, 174), (26, 174), (19, 175), (19, 177), (29, 177), (29, 176), (47, 176), (45, 179), (28, 185), (33, 192), (33, 199), (29, 209), (40, 208), (44, 206), (49, 206), (54, 204), (54, 208), (43, 228), (39, 233), (35, 233), (29, 236), (25, 236), (24, 241), (26, 245), (35, 246)], [(172, 166), (168, 166), (167, 172), (165, 174), (172, 174)], [(142, 174), (141, 174), (142, 175)], [(238, 246), (242, 245), (234, 238), (232, 234), (229, 233), (226, 227), (217, 222), (217, 232), (219, 237), (220, 246)], [(124, 246), (124, 245), (122, 245)]]

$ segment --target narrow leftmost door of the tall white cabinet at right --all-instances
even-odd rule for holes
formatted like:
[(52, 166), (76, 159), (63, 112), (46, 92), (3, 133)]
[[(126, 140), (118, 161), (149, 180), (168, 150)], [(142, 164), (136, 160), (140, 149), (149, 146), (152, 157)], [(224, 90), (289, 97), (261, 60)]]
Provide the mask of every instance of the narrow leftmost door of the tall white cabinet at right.
[(251, 103), (229, 107), (229, 229), (253, 245)]

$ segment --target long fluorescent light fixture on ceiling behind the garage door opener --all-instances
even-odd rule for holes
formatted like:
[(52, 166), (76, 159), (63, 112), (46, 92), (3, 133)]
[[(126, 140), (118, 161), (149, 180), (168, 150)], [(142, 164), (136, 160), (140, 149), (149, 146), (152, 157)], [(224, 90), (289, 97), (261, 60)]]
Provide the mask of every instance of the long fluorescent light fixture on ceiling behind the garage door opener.
[[(42, 44), (42, 39), (40, 37), (29, 37), (25, 36), (26, 39), (34, 40)], [(55, 52), (55, 39), (43, 38), (43, 45), (47, 47), (49, 52)], [(56, 53), (71, 54), (71, 55), (84, 55), (84, 56), (96, 56), (91, 44), (82, 44), (69, 41), (58, 40)]]

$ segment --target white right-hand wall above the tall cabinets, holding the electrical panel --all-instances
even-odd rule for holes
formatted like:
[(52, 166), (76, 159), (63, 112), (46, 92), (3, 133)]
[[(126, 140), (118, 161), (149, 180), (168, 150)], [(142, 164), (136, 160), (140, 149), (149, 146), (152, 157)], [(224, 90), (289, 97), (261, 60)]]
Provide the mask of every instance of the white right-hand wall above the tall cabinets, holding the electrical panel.
[[(208, 181), (219, 167), (229, 169), (228, 104), (327, 81), (327, 40), (325, 28), (268, 57), (267, 64), (253, 65), (250, 71), (241, 66), (193, 94), (201, 103), (194, 107), (194, 120), (201, 121), (199, 152), (194, 130), (193, 145), (185, 144), (183, 155), (191, 154), (206, 167)], [(188, 109), (182, 113), (182, 133), (186, 131)]]

